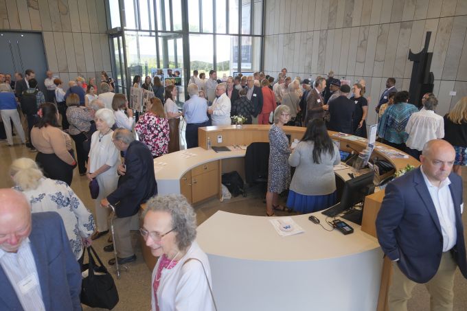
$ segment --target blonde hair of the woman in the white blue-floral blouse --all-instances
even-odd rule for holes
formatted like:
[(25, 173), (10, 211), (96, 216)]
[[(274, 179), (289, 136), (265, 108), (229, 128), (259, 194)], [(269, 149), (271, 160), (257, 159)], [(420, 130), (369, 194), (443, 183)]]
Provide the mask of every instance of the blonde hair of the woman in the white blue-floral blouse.
[(44, 174), (32, 159), (20, 158), (14, 160), (10, 166), (10, 176), (13, 178), (14, 185), (27, 191), (36, 189)]

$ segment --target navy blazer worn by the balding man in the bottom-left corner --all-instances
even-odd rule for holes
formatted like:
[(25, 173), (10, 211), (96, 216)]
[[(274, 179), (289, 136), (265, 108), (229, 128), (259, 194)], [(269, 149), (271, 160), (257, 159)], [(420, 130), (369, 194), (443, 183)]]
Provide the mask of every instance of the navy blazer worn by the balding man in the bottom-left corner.
[[(29, 238), (45, 310), (82, 310), (80, 266), (71, 251), (60, 215), (55, 211), (32, 214)], [(1, 266), (0, 292), (0, 310), (23, 310)]]

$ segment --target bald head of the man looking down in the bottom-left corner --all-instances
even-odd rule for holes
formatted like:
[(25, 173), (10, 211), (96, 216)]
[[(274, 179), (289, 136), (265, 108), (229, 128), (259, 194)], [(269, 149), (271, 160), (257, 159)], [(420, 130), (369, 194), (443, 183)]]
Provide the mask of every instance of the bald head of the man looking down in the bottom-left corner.
[(0, 249), (16, 253), (31, 229), (31, 207), (25, 195), (0, 189)]

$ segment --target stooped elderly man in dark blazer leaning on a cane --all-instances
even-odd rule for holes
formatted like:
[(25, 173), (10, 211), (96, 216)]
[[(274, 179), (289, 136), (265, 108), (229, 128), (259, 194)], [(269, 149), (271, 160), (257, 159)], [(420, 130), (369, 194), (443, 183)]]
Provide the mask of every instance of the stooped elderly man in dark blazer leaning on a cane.
[[(117, 218), (113, 220), (115, 228), (115, 243), (119, 264), (136, 260), (131, 245), (131, 218), (137, 215), (139, 205), (157, 194), (157, 183), (154, 174), (154, 159), (149, 148), (135, 140), (133, 134), (125, 128), (117, 128), (113, 132), (115, 147), (125, 153), (124, 165), (119, 165), (118, 187), (107, 198), (101, 200), (101, 205), (115, 207)], [(104, 251), (113, 251), (113, 244), (104, 247)], [(115, 259), (109, 260), (115, 264)]]

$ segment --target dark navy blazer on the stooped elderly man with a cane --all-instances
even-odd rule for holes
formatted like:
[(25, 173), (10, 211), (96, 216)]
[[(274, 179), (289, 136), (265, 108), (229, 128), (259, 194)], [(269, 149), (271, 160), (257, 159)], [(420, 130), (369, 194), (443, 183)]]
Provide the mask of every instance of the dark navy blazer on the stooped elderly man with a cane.
[(157, 194), (154, 159), (141, 141), (132, 141), (125, 154), (126, 173), (120, 176), (118, 187), (107, 196), (119, 218), (130, 217), (139, 205)]

